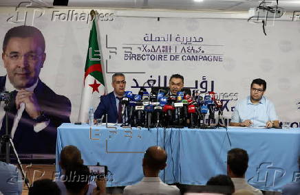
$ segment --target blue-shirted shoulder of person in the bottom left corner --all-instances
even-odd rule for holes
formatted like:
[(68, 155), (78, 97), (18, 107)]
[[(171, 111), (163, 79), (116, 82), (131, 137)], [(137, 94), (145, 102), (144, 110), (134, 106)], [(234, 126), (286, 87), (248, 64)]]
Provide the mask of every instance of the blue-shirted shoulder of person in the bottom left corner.
[(18, 168), (0, 161), (0, 192), (6, 195), (21, 195), (22, 185), (23, 181)]

